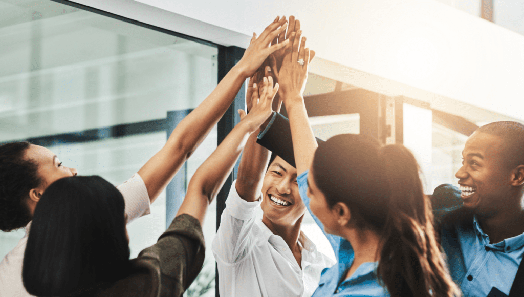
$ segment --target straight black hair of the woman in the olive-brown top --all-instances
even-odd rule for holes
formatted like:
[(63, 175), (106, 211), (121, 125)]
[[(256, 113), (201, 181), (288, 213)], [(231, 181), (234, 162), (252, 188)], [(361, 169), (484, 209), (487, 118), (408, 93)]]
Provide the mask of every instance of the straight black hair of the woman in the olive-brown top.
[(31, 295), (77, 295), (129, 271), (124, 198), (100, 176), (58, 179), (31, 222), (22, 277)]

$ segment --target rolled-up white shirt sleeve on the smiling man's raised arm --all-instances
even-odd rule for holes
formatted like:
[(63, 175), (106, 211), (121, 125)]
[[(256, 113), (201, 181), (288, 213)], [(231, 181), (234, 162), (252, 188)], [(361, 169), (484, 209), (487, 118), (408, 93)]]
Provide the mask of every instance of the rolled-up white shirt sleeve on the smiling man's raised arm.
[(219, 264), (233, 265), (242, 261), (251, 250), (255, 210), (261, 200), (248, 202), (242, 199), (236, 192), (236, 181), (233, 182), (220, 218), (220, 227), (211, 245)]

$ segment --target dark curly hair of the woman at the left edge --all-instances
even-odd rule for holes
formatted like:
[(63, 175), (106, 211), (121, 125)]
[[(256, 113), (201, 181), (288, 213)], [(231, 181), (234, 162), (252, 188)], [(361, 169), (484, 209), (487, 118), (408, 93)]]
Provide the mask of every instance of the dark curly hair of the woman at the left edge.
[(0, 230), (25, 227), (31, 220), (27, 206), (29, 191), (41, 183), (38, 164), (25, 158), (31, 143), (0, 145)]

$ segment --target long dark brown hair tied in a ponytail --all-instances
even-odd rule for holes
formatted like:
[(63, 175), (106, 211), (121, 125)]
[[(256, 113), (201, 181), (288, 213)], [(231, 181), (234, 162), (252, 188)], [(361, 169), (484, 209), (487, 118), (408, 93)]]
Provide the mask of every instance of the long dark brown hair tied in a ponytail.
[(330, 207), (344, 203), (358, 228), (379, 234), (377, 276), (392, 297), (460, 295), (436, 241), (419, 166), (406, 147), (336, 135), (319, 144), (312, 175)]

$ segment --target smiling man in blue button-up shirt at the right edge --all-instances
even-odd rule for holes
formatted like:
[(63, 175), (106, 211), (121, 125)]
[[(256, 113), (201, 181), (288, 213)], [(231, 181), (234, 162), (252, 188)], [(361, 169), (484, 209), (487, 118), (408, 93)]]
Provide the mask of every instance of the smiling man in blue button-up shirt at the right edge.
[(507, 296), (524, 253), (524, 125), (484, 125), (462, 156), (463, 206), (442, 229), (450, 272), (464, 297)]

